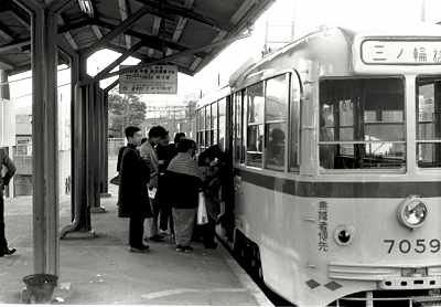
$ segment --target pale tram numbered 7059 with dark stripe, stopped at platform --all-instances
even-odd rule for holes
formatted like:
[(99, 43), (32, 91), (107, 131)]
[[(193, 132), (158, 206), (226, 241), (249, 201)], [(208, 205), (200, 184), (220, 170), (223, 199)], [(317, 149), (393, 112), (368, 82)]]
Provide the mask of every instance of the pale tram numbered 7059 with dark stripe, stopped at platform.
[(441, 304), (440, 30), (322, 29), (198, 102), (232, 246), (289, 301)]

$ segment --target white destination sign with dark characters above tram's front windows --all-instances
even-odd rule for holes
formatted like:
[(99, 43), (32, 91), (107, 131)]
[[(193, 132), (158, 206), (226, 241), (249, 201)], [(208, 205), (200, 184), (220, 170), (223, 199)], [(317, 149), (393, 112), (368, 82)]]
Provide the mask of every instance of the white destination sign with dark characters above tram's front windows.
[(362, 43), (365, 64), (441, 65), (441, 41), (366, 40)]

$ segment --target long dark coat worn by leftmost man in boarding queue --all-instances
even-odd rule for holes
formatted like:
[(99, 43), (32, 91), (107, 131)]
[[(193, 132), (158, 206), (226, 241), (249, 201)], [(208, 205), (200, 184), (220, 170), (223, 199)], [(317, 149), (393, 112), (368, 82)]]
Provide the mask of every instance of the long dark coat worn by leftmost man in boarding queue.
[(150, 169), (142, 160), (135, 145), (129, 144), (121, 159), (121, 178), (119, 197), (121, 211), (130, 216), (151, 216), (147, 183), (150, 180)]

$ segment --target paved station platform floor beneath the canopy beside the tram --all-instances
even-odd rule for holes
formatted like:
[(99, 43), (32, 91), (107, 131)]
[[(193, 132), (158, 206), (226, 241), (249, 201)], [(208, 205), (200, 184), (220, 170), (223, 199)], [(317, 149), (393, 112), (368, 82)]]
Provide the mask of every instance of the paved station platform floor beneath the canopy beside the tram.
[[(115, 195), (115, 193), (114, 193)], [(0, 258), (0, 304), (19, 304), (22, 277), (32, 274), (32, 198), (6, 201), (7, 237), (18, 254)], [(271, 305), (226, 250), (178, 253), (172, 243), (150, 242), (148, 254), (129, 253), (128, 219), (117, 218), (116, 199), (93, 214), (95, 239), (61, 241), (60, 304)], [(61, 200), (61, 226), (71, 218)], [(55, 303), (56, 304), (56, 303)]]

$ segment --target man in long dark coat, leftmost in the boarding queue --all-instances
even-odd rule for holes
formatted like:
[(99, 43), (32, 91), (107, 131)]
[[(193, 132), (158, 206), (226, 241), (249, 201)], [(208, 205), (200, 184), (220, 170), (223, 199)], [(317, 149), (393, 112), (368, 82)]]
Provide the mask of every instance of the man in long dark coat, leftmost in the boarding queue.
[(127, 127), (126, 137), (128, 144), (121, 159), (120, 205), (130, 215), (130, 252), (143, 253), (149, 248), (143, 245), (142, 236), (144, 219), (151, 216), (147, 192), (150, 169), (137, 150), (142, 139), (141, 130), (133, 126)]

